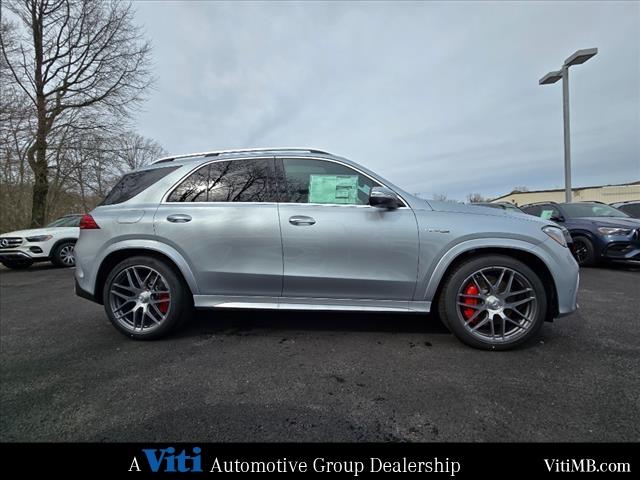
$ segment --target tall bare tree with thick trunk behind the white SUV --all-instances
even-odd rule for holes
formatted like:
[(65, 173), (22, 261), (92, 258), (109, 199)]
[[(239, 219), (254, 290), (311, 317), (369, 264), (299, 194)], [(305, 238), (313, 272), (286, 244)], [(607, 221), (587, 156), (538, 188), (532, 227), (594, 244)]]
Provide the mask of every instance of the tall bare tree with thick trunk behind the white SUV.
[(12, 0), (7, 8), (22, 29), (15, 44), (2, 29), (0, 49), (35, 119), (26, 157), (34, 175), (31, 225), (41, 226), (52, 132), (74, 126), (79, 110), (127, 118), (152, 81), (150, 45), (129, 3)]

